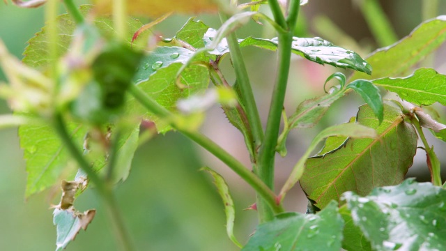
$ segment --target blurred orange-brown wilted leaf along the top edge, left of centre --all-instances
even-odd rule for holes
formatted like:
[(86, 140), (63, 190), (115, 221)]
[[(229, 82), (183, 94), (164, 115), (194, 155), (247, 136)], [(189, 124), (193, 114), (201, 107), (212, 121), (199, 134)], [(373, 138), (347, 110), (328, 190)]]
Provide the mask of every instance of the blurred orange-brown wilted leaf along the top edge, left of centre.
[[(93, 2), (99, 6), (101, 12), (111, 13), (112, 0), (94, 0)], [(142, 17), (159, 17), (170, 12), (183, 14), (216, 13), (218, 8), (217, 1), (213, 0), (132, 0), (126, 1), (126, 4), (130, 15)]]

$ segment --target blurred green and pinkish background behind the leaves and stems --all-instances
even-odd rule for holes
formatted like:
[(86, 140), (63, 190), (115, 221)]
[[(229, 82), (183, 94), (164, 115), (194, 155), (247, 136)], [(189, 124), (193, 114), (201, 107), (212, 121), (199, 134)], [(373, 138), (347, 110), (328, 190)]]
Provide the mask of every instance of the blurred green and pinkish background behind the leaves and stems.
[[(355, 2), (310, 0), (301, 10), (302, 25), (298, 36), (321, 36), (367, 56), (377, 48), (377, 43)], [(423, 20), (421, 0), (380, 2), (399, 38), (408, 35)], [(439, 2), (438, 15), (444, 15), (446, 1)], [(262, 7), (261, 10), (268, 12), (268, 8)], [(187, 19), (183, 15), (170, 17), (157, 26), (157, 31), (164, 37), (174, 36)], [(214, 28), (220, 25), (217, 15), (202, 15), (199, 19)], [(20, 9), (0, 1), (0, 38), (17, 57), (21, 57), (26, 41), (40, 31), (43, 24), (43, 8)], [(250, 22), (238, 31), (238, 36), (272, 38), (275, 35), (270, 27)], [(436, 69), (443, 74), (446, 73), (445, 51), (445, 46), (441, 47), (434, 61)], [(250, 47), (244, 48), (243, 53), (265, 122), (275, 79), (276, 55)], [(223, 63), (223, 70), (233, 81), (228, 59)], [(325, 79), (336, 70), (293, 56), (286, 111), (291, 114), (305, 98), (321, 95)], [(1, 70), (0, 80), (5, 80)], [(334, 123), (348, 121), (355, 116), (357, 106), (361, 104), (360, 98), (351, 94), (337, 101), (315, 128), (293, 131), (287, 142), (289, 155), (286, 158), (277, 156), (277, 184), (283, 184), (316, 132)], [(3, 101), (0, 101), (0, 110), (1, 113), (9, 112)], [(249, 166), (243, 137), (227, 122), (220, 108), (210, 109), (202, 131)], [(54, 250), (56, 229), (52, 225), (52, 210), (49, 210), (49, 205), (54, 202), (54, 193), (42, 192), (25, 201), (26, 172), (17, 129), (1, 130), (0, 142), (0, 250)], [(431, 142), (442, 162), (446, 163), (445, 143)], [(408, 176), (428, 181), (425, 155), (419, 152)], [(247, 241), (257, 224), (254, 211), (243, 211), (255, 201), (252, 189), (194, 143), (179, 133), (169, 132), (165, 136), (157, 135), (141, 146), (128, 180), (116, 185), (118, 204), (139, 250), (238, 250), (226, 237), (224, 208), (210, 177), (198, 171), (204, 165), (217, 169), (229, 183), (236, 202), (236, 236), (242, 243)], [(446, 170), (443, 171), (445, 173)], [(84, 192), (75, 206), (80, 211), (96, 208), (98, 213), (89, 229), (81, 231), (67, 250), (117, 250), (111, 223), (94, 190)], [(287, 197), (286, 208), (304, 212), (306, 206), (307, 201), (296, 186)]]

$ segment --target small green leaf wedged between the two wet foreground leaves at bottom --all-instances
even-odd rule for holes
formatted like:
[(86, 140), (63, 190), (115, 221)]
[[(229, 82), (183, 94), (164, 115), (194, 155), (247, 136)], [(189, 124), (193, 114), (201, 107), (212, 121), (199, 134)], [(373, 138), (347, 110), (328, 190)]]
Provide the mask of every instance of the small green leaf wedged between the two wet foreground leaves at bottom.
[(370, 242), (362, 233), (361, 229), (355, 225), (353, 218), (351, 218), (351, 212), (347, 206), (341, 206), (339, 213), (344, 220), (344, 231), (342, 235), (342, 248), (348, 251), (371, 251)]

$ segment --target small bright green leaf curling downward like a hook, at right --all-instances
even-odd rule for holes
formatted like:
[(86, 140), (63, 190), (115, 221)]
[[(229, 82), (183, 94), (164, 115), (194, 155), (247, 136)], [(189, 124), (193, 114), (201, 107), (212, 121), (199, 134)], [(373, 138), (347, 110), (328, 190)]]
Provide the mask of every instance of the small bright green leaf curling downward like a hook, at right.
[(353, 89), (359, 93), (362, 99), (374, 111), (379, 123), (383, 122), (383, 98), (381, 98), (379, 90), (374, 84), (364, 79), (357, 79), (348, 84), (346, 89)]

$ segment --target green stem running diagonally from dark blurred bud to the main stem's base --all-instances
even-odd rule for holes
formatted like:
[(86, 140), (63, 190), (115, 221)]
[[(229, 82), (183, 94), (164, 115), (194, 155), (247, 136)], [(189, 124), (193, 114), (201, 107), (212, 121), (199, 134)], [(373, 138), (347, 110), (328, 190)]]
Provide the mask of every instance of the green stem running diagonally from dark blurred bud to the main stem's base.
[(272, 192), (272, 190), (270, 190), (270, 188), (268, 188), (265, 183), (263, 183), (261, 179), (256, 176), (256, 174), (249, 171), (249, 169), (247, 169), (242, 163), (233, 158), (232, 155), (224, 151), (224, 149), (215, 144), (215, 142), (210, 140), (205, 135), (202, 135), (199, 132), (191, 132), (189, 130), (184, 130), (183, 128), (178, 127), (174, 122), (174, 114), (171, 114), (171, 112), (159, 105), (155, 100), (144, 93), (144, 91), (141, 91), (138, 86), (130, 86), (129, 91), (132, 96), (141, 103), (141, 105), (148, 109), (148, 111), (152, 112), (160, 119), (168, 121), (170, 123), (170, 126), (183, 133), (183, 135), (185, 135), (186, 137), (192, 139), (194, 142), (202, 146), (203, 149), (206, 149), (207, 151), (215, 155), (215, 157), (219, 158), (220, 160), (222, 160), (222, 162), (228, 165), (228, 167), (236, 172), (236, 174), (238, 174), (240, 178), (243, 178), (244, 181), (251, 185), (252, 188), (254, 188), (254, 190), (256, 190), (256, 192), (261, 195), (261, 197), (265, 199), (265, 201), (267, 201), (272, 211), (274, 211), (275, 213), (282, 213), (284, 211), (282, 206), (280, 204), (277, 204), (277, 199), (274, 192)]

